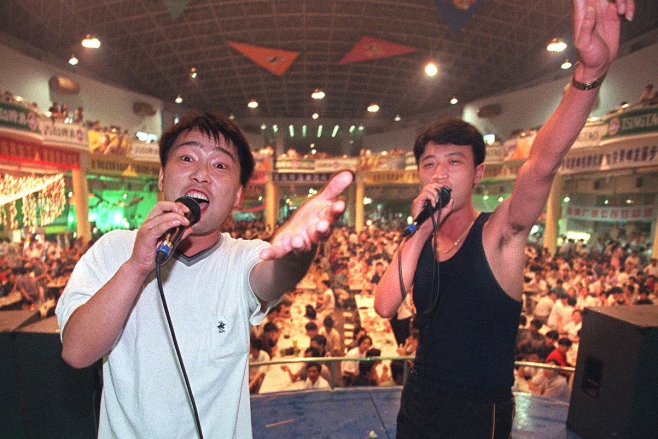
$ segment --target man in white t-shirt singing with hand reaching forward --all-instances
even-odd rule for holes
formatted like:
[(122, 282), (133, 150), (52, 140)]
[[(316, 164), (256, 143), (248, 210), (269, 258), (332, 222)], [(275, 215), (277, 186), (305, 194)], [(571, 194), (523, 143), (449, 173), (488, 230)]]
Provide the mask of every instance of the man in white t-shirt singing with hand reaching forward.
[[(136, 231), (103, 236), (80, 259), (57, 305), (62, 356), (73, 367), (103, 358), (99, 438), (251, 438), (249, 327), (294, 288), (331, 232), (352, 180), (336, 174), (270, 244), (220, 226), (254, 168), (247, 140), (220, 113), (188, 113), (160, 140), (159, 201)], [(190, 223), (188, 196), (201, 215)], [(159, 299), (156, 250), (183, 230), (161, 267), (168, 313), (196, 405)], [(173, 246), (173, 245), (172, 245)], [(196, 425), (196, 410), (200, 427)]]

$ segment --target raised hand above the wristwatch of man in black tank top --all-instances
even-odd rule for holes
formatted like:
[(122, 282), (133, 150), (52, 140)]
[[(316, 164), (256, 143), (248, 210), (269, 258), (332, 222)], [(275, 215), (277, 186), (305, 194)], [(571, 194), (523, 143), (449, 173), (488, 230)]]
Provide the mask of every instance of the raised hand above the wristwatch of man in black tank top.
[(574, 0), (574, 44), (585, 69), (607, 70), (619, 49), (620, 16), (634, 14), (634, 0)]

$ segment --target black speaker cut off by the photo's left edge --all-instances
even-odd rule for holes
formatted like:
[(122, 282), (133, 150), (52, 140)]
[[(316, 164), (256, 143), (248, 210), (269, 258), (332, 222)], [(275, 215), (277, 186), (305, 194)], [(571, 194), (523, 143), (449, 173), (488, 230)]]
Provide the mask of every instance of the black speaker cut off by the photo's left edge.
[(0, 435), (6, 438), (25, 437), (14, 331), (40, 318), (39, 311), (0, 311)]

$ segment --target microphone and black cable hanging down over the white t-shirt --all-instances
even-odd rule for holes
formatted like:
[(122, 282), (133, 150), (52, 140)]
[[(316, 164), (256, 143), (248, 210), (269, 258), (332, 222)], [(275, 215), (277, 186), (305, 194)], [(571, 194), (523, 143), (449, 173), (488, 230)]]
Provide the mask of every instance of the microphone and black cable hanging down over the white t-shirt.
[[(186, 196), (186, 197), (180, 197), (176, 199), (176, 201), (177, 202), (180, 201), (190, 209), (190, 212), (186, 215), (186, 218), (190, 220), (190, 226), (199, 221), (199, 219), (201, 218), (201, 208), (199, 207), (199, 203), (197, 203), (195, 199)], [(192, 388), (190, 386), (190, 378), (188, 378), (188, 373), (185, 370), (185, 365), (183, 364), (183, 357), (182, 355), (180, 355), (180, 348), (178, 348), (178, 341), (176, 340), (176, 332), (174, 332), (174, 325), (172, 324), (171, 315), (169, 314), (169, 307), (167, 307), (166, 305), (166, 299), (164, 298), (163, 281), (160, 276), (160, 265), (163, 264), (164, 261), (168, 260), (170, 253), (173, 251), (174, 247), (176, 247), (176, 244), (178, 244), (178, 241), (180, 240), (180, 236), (182, 236), (184, 230), (185, 227), (180, 226), (176, 229), (172, 229), (169, 230), (169, 232), (167, 232), (166, 239), (164, 240), (163, 244), (161, 244), (158, 247), (156, 251), (155, 274), (158, 282), (158, 289), (160, 290), (160, 298), (163, 301), (164, 315), (166, 315), (166, 322), (169, 325), (169, 332), (171, 333), (171, 339), (172, 342), (174, 342), (174, 349), (176, 349), (176, 356), (178, 357), (178, 363), (180, 364), (180, 371), (182, 372), (183, 378), (185, 379), (185, 386), (188, 389), (188, 396), (190, 396), (190, 403), (192, 405), (192, 411), (194, 413), (194, 422), (197, 426), (197, 432), (199, 432), (199, 439), (203, 439), (203, 432), (201, 431), (201, 421), (199, 420), (199, 411), (197, 410), (197, 403), (194, 400), (194, 395), (192, 394)]]

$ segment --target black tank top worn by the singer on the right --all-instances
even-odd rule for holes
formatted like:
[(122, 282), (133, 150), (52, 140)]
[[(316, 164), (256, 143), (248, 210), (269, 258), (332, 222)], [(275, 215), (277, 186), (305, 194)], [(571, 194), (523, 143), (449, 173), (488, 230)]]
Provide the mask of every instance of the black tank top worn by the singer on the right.
[[(414, 363), (445, 390), (484, 397), (505, 392), (514, 383), (522, 305), (499, 286), (484, 254), (482, 228), (490, 215), (480, 213), (457, 253), (439, 264), (438, 303), (420, 330)], [(418, 316), (428, 309), (432, 296), (432, 247), (430, 237), (414, 275)]]

